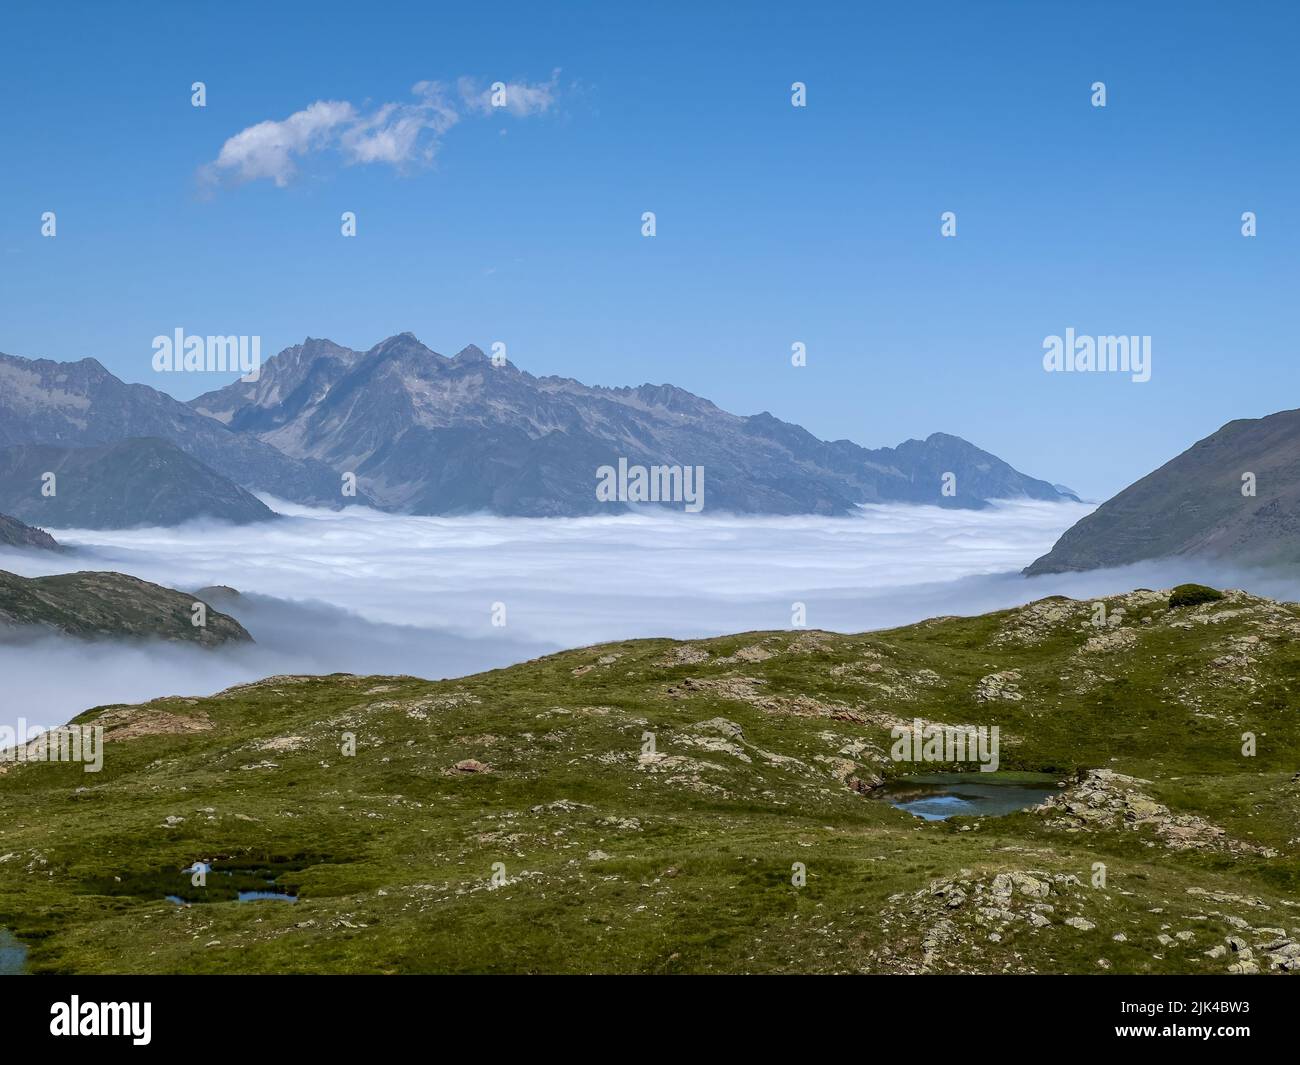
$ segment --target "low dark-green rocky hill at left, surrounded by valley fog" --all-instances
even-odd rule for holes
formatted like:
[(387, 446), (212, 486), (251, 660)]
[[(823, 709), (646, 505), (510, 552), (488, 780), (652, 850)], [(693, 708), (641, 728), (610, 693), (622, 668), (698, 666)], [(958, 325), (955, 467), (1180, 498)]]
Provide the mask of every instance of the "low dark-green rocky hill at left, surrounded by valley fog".
[(0, 637), (22, 638), (32, 629), (82, 638), (176, 640), (211, 648), (252, 637), (234, 618), (208, 609), (195, 625), (194, 596), (126, 573), (87, 570), (48, 577), (20, 577), (0, 570)]

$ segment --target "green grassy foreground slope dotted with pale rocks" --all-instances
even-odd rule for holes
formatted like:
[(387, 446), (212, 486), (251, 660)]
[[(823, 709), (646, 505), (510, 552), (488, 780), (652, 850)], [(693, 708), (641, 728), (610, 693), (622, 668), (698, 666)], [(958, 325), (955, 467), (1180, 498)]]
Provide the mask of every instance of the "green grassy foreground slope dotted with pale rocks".
[[(1204, 952), (1226, 935), (1300, 935), (1300, 607), (1239, 593), (1178, 611), (1138, 593), (1108, 605), (1126, 612), (1105, 631), (1088, 603), (1050, 599), (861, 636), (642, 640), (452, 681), (272, 677), (90, 711), (79, 720), (209, 727), (110, 743), (99, 775), (0, 775), (0, 925), (38, 971), (1098, 971), (1104, 958), (1222, 973), (1232, 957)], [(1019, 700), (976, 697), (1009, 670)], [(906, 771), (888, 762), (888, 724), (914, 715), (1001, 726), (1004, 769), (1145, 778), (1174, 813), (1277, 853), (1175, 850), (1148, 830), (1069, 831), (1036, 813), (922, 823), (844, 783)], [(640, 757), (647, 731), (664, 761)], [(452, 769), (467, 758), (491, 770)], [(264, 865), (302, 900), (164, 901), (195, 860)], [(1098, 861), (1105, 889), (1087, 886)], [(490, 889), (494, 862), (510, 880)], [(1054, 889), (1044, 927), (1018, 919), (1000, 941), (971, 901), (927, 887), (957, 878), (970, 893), (1027, 870), (1083, 883)], [(937, 925), (952, 931), (927, 943)], [(1157, 939), (1187, 930), (1188, 943)]]

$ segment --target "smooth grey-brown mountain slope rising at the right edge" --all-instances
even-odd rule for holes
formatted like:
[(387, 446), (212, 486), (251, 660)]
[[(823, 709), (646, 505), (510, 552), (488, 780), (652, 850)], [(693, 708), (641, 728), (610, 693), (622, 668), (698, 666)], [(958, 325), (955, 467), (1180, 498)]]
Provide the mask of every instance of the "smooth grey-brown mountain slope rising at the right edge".
[[(1256, 495), (1243, 495), (1243, 475)], [(1300, 562), (1300, 411), (1230, 421), (1071, 525), (1024, 572), (1170, 555)]]

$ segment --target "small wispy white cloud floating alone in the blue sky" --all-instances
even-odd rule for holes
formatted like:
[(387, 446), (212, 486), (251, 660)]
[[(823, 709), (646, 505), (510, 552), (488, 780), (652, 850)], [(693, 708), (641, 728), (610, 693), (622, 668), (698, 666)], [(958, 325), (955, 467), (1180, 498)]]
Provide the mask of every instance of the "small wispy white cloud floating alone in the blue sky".
[[(384, 163), (406, 169), (428, 164), (442, 137), (463, 118), (497, 111), (526, 118), (550, 111), (558, 77), (555, 72), (549, 82), (536, 85), (460, 78), (455, 91), (441, 82), (417, 82), (412, 100), (368, 111), (346, 100), (317, 100), (281, 121), (240, 130), (199, 176), (209, 186), (269, 178), (282, 189), (296, 176), (298, 159), (320, 152), (335, 152), (348, 165)], [(494, 95), (493, 85), (504, 87)]]

